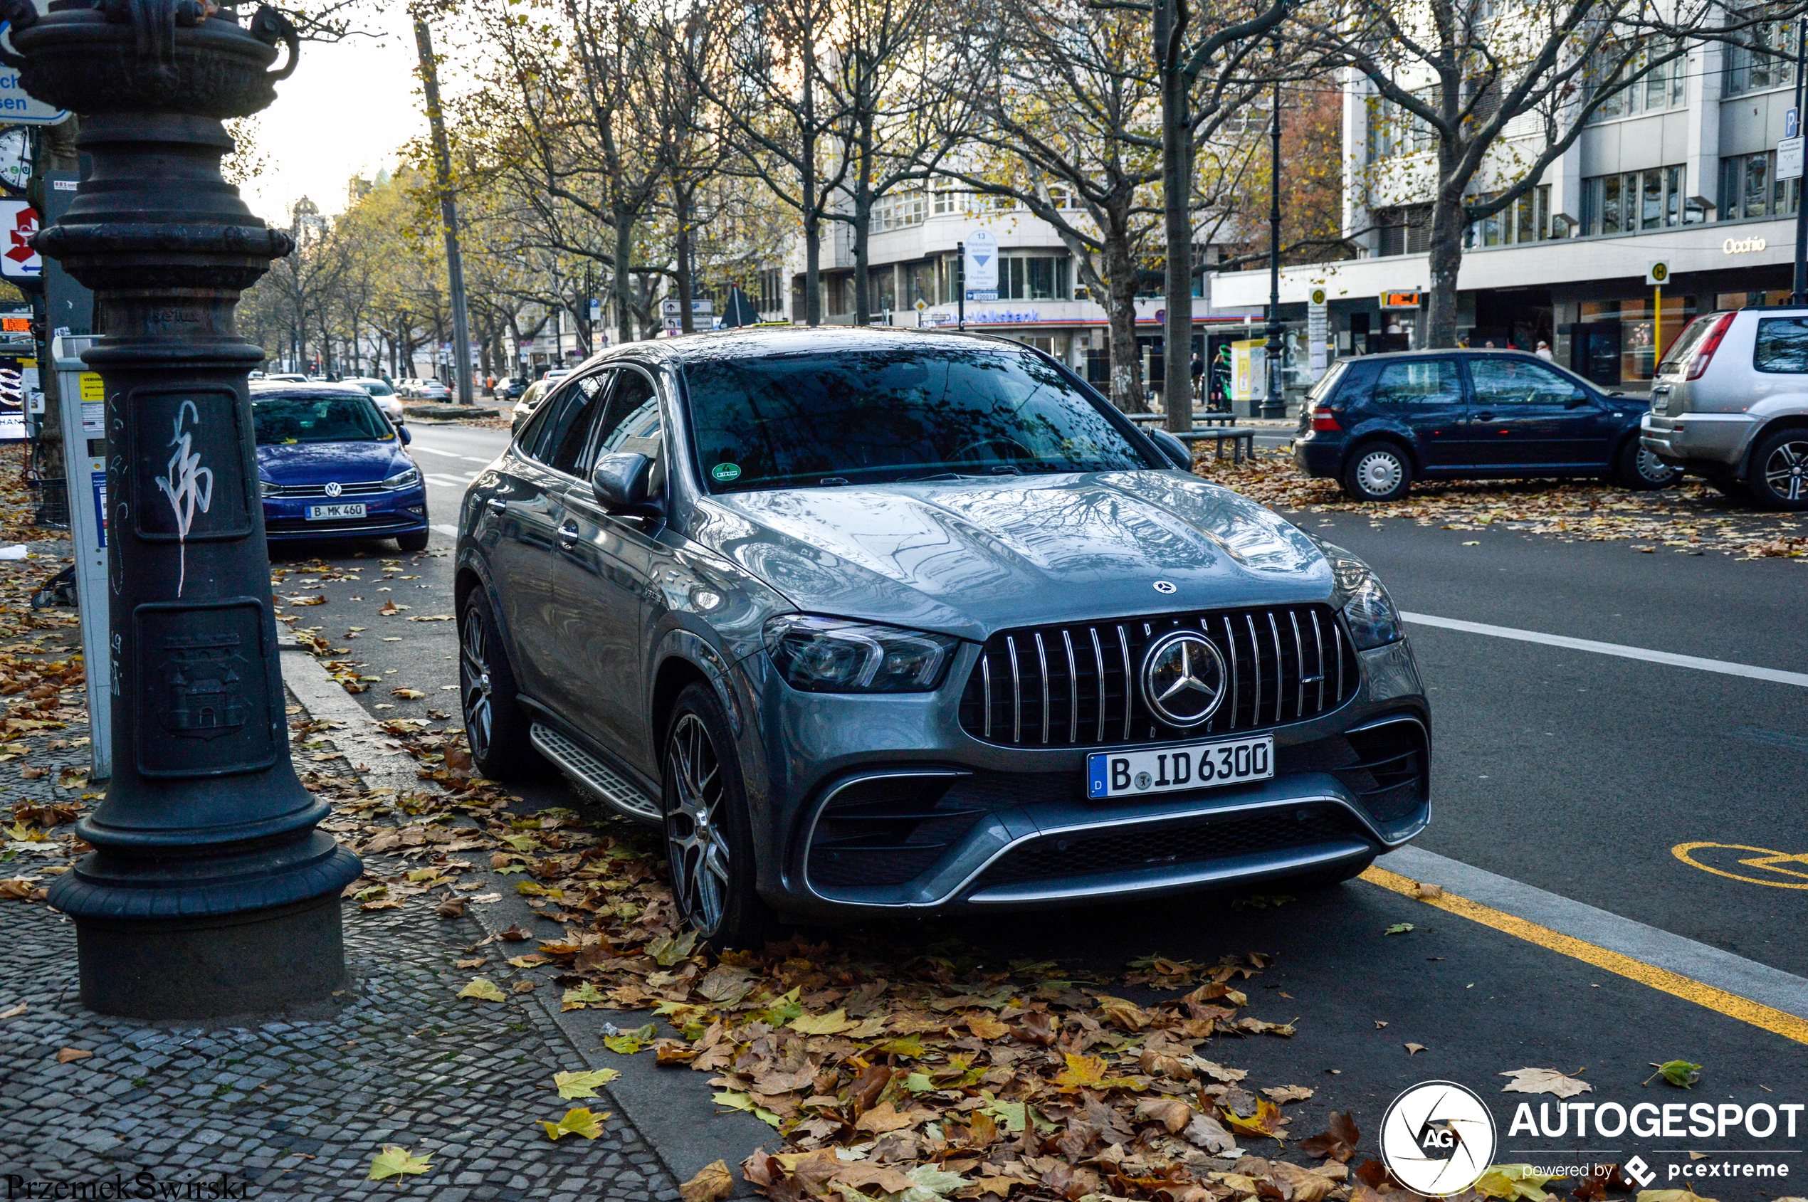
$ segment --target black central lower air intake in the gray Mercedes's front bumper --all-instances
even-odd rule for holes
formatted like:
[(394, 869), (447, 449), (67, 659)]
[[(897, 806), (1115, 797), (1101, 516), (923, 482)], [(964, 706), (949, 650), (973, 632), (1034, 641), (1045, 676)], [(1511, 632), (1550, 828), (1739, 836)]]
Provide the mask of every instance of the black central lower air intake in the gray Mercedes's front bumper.
[(1340, 839), (1369, 840), (1369, 835), (1336, 806), (1248, 813), (1186, 826), (1132, 826), (1099, 833), (1049, 835), (1000, 857), (985, 869), (976, 887), (1201, 864)]

